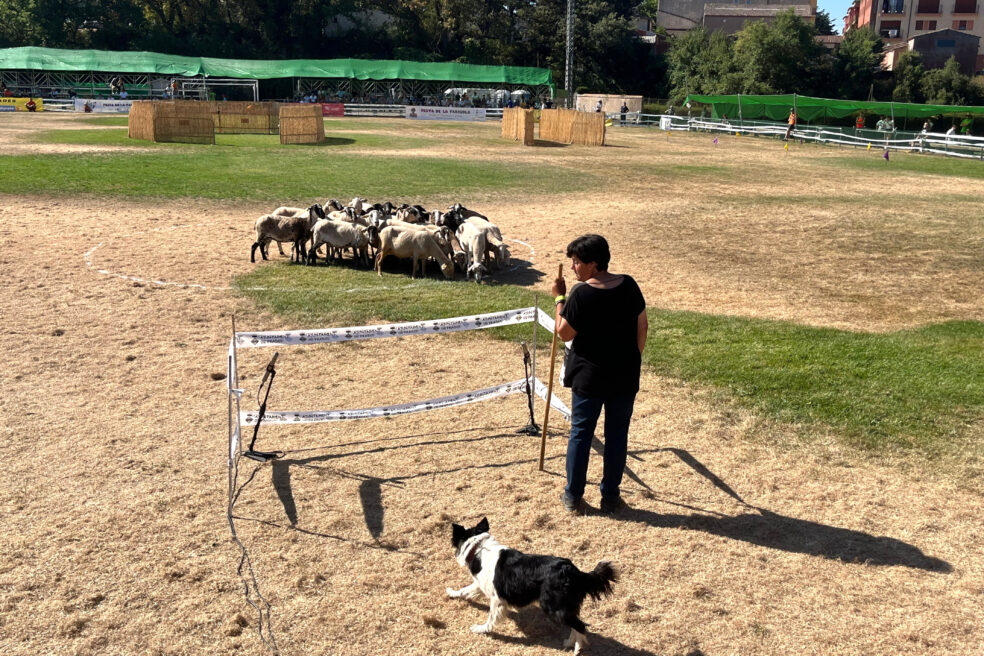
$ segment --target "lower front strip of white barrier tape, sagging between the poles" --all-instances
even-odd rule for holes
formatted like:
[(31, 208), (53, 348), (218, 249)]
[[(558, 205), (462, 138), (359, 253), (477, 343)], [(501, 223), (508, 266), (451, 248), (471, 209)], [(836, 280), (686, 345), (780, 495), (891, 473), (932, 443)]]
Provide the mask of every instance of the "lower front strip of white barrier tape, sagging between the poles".
[[(486, 387), (472, 392), (462, 392), (452, 396), (442, 396), (437, 399), (427, 401), (414, 401), (411, 403), (400, 403), (398, 405), (378, 406), (375, 408), (362, 408), (359, 410), (311, 410), (302, 412), (268, 411), (263, 417), (264, 423), (269, 424), (316, 424), (327, 421), (345, 421), (348, 419), (372, 419), (374, 417), (393, 417), (398, 415), (408, 415), (415, 412), (426, 412), (428, 410), (440, 410), (442, 408), (452, 408), (468, 403), (487, 401), (507, 394), (525, 393), (526, 380), (521, 378), (510, 383)], [(254, 426), (256, 417), (259, 413), (255, 410), (240, 413), (240, 421), (243, 426)]]

